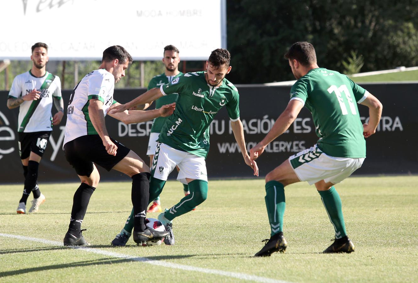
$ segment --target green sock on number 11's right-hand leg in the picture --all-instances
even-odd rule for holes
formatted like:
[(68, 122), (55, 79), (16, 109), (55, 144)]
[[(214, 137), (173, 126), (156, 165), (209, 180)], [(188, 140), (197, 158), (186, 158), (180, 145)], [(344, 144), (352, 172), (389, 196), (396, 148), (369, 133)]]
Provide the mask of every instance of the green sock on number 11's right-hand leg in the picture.
[(344, 217), (342, 215), (341, 199), (334, 186), (328, 191), (318, 191), (318, 193), (321, 195), (322, 203), (324, 204), (326, 213), (328, 213), (329, 220), (334, 225), (335, 238), (340, 239), (347, 236)]

